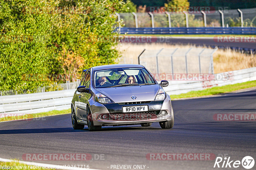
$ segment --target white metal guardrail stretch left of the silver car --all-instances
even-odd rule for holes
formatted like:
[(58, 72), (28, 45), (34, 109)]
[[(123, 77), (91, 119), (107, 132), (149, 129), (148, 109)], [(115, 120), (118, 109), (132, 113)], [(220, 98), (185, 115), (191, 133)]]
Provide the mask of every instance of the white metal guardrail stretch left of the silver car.
[(69, 109), (75, 90), (0, 96), (0, 114), (30, 114)]

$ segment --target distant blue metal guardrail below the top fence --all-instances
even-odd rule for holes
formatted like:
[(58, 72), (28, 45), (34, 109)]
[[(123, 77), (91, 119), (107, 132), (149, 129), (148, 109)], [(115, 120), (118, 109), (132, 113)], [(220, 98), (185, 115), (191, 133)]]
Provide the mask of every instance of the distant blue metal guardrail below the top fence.
[(256, 27), (178, 27), (178, 28), (130, 28), (120, 29), (121, 34), (256, 34)]

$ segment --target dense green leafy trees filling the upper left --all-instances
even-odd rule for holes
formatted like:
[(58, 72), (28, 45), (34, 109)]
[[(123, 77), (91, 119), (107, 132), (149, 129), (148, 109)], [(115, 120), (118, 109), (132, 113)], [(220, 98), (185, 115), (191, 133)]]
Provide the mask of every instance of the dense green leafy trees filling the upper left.
[(0, 6), (0, 90), (35, 91), (52, 84), (45, 75), (73, 74), (67, 60), (81, 73), (120, 55), (115, 12), (124, 10), (123, 1), (12, 0)]

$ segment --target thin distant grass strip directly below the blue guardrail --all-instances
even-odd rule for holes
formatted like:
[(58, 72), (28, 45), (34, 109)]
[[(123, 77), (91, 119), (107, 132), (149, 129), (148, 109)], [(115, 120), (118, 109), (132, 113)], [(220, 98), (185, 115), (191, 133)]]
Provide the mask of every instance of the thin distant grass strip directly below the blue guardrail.
[(255, 35), (235, 35), (235, 34), (120, 34), (121, 36), (156, 36), (156, 37), (216, 37), (216, 36), (236, 36), (244, 37), (250, 36), (255, 37)]

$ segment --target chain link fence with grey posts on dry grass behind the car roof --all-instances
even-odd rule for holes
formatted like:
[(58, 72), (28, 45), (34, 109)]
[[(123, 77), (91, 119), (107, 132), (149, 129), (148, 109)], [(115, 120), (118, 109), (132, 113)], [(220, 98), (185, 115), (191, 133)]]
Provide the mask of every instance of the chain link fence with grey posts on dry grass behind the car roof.
[(143, 50), (137, 63), (123, 56), (119, 63), (141, 64), (152, 74), (214, 74), (213, 53), (218, 48), (162, 48)]

